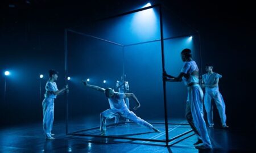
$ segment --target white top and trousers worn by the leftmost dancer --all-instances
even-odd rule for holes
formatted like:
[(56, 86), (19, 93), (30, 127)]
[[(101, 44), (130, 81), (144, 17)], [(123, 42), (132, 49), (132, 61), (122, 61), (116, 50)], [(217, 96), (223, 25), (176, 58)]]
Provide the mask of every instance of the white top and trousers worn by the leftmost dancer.
[(47, 138), (51, 137), (51, 130), (54, 118), (54, 99), (56, 95), (52, 92), (58, 91), (57, 84), (55, 82), (46, 83), (46, 94), (44, 94), (43, 100), (43, 130)]

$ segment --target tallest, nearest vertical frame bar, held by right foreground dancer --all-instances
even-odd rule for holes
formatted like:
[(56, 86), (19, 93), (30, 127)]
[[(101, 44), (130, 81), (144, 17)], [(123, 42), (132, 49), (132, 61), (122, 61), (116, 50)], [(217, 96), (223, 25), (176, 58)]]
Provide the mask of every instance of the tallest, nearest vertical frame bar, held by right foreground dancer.
[[(161, 52), (162, 52), (162, 68), (163, 72), (166, 71), (164, 61), (164, 39), (163, 39), (163, 18), (162, 18), (162, 6), (159, 6), (159, 18), (160, 18), (160, 36), (161, 36)], [(164, 96), (164, 124), (166, 128), (166, 146), (168, 146), (169, 133), (168, 133), (168, 116), (167, 116), (167, 99), (166, 99), (166, 81), (163, 80), (163, 96)]]

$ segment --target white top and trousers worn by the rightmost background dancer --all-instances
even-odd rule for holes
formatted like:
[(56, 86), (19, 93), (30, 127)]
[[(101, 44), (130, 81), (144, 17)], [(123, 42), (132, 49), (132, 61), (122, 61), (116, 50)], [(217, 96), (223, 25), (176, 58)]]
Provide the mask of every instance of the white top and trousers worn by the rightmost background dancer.
[[(212, 85), (212, 84), (214, 84), (216, 79), (220, 79), (221, 77), (222, 76), (217, 73), (204, 74), (203, 80), (206, 85)], [(214, 125), (212, 99), (214, 99), (215, 104), (217, 106), (222, 125), (226, 125), (225, 103), (224, 103), (222, 95), (220, 94), (220, 91), (218, 91), (218, 85), (217, 85), (217, 87), (213, 87), (213, 88), (205, 87), (204, 105), (205, 105), (205, 109), (207, 111), (208, 124), (210, 126)]]

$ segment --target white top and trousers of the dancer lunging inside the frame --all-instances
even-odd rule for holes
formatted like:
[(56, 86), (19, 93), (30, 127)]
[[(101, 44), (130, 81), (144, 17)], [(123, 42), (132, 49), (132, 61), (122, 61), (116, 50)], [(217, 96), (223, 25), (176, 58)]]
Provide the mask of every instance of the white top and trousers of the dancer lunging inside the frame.
[(115, 95), (113, 97), (110, 97), (109, 100), (109, 105), (110, 109), (107, 109), (106, 111), (102, 112), (100, 114), (100, 130), (105, 133), (106, 131), (106, 120), (117, 117), (117, 116), (122, 116), (125, 117), (138, 125), (145, 126), (148, 129), (154, 128), (151, 124), (148, 122), (142, 120), (134, 112), (130, 111), (127, 108), (127, 105), (125, 104), (124, 100), (125, 94), (115, 92)]

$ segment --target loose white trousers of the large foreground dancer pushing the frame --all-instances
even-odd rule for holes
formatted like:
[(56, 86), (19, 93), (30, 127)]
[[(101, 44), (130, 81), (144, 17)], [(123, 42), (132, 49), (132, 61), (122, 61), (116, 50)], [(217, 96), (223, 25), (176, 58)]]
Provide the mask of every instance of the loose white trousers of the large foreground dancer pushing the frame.
[(203, 141), (205, 146), (212, 147), (207, 126), (204, 121), (203, 96), (204, 93), (199, 85), (196, 84), (188, 87), (187, 103), (189, 103), (191, 107), (193, 124), (198, 132), (197, 136)]

